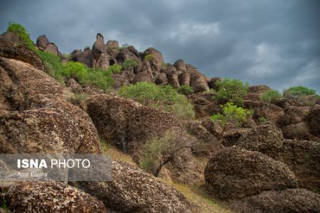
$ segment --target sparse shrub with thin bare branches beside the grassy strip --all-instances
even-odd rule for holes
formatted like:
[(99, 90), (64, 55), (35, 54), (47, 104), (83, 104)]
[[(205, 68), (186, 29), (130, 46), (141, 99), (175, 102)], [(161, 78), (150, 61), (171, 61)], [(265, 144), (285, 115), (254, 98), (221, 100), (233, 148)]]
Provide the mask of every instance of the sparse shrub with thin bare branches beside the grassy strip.
[(172, 160), (186, 158), (184, 152), (191, 148), (190, 138), (180, 131), (167, 131), (163, 138), (151, 138), (142, 147), (142, 169), (158, 177), (161, 169)]

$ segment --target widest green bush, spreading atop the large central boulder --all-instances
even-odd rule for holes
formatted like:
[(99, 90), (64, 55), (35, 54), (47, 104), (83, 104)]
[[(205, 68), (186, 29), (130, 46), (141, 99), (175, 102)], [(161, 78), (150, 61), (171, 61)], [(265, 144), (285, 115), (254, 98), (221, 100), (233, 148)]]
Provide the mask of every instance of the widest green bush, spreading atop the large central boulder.
[[(181, 119), (194, 117), (193, 106), (183, 94), (178, 94), (170, 85), (157, 86), (149, 82), (138, 82), (124, 86), (119, 96), (134, 99), (137, 102), (176, 114)], [(178, 111), (184, 111), (185, 113)]]

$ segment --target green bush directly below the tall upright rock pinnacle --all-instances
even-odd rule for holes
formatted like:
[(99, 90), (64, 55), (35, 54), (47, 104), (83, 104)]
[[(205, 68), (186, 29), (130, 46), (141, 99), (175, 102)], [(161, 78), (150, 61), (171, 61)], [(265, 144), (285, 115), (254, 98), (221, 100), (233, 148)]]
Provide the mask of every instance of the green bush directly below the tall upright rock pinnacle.
[(80, 81), (80, 83), (103, 89), (105, 92), (110, 92), (114, 81), (112, 78), (112, 72), (92, 68), (87, 69), (87, 75), (85, 79)]

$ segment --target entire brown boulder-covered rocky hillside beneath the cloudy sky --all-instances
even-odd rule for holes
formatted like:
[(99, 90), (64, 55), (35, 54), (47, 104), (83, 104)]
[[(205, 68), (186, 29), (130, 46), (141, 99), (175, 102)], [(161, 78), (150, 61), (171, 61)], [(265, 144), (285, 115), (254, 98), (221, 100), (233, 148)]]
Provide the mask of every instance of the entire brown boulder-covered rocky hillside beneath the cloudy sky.
[[(121, 68), (104, 91), (84, 83), (79, 67), (59, 81), (42, 53), (58, 57), (61, 67)], [(0, 153), (114, 158), (110, 182), (0, 182), (1, 212), (320, 212), (314, 95), (265, 102), (260, 97), (270, 87), (250, 86), (237, 108), (250, 113), (241, 125), (224, 124), (210, 118), (227, 115), (218, 97), (228, 88), (219, 77), (209, 79), (183, 60), (165, 63), (154, 48), (139, 53), (105, 43), (100, 33), (92, 48), (63, 55), (46, 35), (30, 48), (7, 31), (0, 36), (0, 82)], [(120, 97), (121, 89), (144, 85), (138, 82), (159, 87), (139, 90), (140, 99)], [(192, 92), (183, 94), (183, 86)], [(152, 88), (167, 90), (142, 101)], [(175, 107), (188, 104), (195, 116), (178, 116), (186, 108)], [(156, 153), (157, 144), (166, 148)], [(151, 162), (154, 170), (145, 166)]]

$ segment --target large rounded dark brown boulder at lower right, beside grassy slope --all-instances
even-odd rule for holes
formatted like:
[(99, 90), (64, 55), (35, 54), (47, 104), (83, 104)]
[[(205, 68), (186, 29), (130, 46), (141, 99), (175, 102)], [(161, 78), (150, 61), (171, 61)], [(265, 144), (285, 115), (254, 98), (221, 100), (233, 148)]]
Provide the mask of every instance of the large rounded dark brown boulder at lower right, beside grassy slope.
[(206, 165), (205, 180), (208, 191), (221, 199), (297, 187), (297, 178), (284, 163), (237, 147), (213, 154)]

